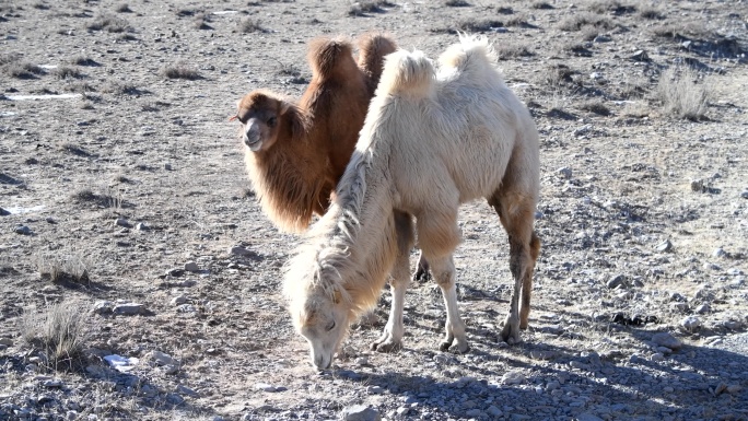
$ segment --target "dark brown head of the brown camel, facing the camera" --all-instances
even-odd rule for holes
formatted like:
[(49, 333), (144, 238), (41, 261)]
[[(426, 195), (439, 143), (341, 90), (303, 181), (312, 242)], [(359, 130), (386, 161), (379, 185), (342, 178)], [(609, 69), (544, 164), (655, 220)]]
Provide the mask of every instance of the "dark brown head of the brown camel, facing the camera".
[(290, 101), (266, 91), (253, 91), (237, 103), (231, 120), (242, 124), (242, 142), (253, 152), (269, 151), (274, 144), (292, 141), (303, 131), (300, 110)]

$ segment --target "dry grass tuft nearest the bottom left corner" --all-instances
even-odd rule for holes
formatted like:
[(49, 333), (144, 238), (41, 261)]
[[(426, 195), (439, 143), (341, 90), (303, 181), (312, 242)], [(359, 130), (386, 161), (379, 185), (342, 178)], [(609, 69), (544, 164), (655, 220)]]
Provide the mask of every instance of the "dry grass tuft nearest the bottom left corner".
[(22, 319), (23, 340), (44, 354), (42, 365), (52, 371), (77, 371), (84, 364), (86, 314), (78, 305), (48, 306), (42, 314), (26, 313)]

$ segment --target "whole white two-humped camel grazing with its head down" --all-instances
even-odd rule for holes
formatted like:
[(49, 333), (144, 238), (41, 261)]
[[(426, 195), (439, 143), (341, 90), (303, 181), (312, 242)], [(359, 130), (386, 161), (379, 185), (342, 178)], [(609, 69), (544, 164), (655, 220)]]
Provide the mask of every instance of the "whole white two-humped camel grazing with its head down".
[(514, 292), (502, 338), (519, 341), (540, 248), (533, 229), (538, 135), (494, 62), (489, 43), (476, 37), (460, 37), (439, 69), (418, 50), (387, 57), (336, 200), (284, 280), (291, 317), (317, 369), (329, 367), (349, 325), (376, 304), (389, 273), (391, 309), (373, 348), (400, 346), (412, 217), (447, 309), (441, 348), (468, 350), (452, 254), (460, 242), (458, 207), (480, 197), (509, 234)]

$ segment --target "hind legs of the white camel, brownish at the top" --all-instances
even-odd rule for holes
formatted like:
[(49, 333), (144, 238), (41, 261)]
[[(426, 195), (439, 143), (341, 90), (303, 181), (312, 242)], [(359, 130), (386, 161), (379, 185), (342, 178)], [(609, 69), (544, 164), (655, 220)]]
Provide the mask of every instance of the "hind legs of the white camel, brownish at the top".
[(514, 278), (514, 290), (501, 336), (512, 344), (521, 341), (519, 329), (527, 329), (528, 324), (533, 271), (540, 252), (540, 239), (533, 230), (536, 202), (533, 196), (502, 188), (489, 199), (489, 204), (499, 213), (509, 235), (510, 270)]

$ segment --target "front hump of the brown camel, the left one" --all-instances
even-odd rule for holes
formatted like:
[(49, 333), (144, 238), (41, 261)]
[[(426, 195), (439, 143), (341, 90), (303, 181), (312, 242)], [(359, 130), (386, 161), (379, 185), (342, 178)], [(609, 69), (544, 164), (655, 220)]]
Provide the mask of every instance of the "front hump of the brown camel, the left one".
[(336, 73), (350, 74), (355, 69), (351, 43), (342, 38), (315, 38), (309, 43), (306, 56), (312, 73), (323, 80), (332, 78)]

